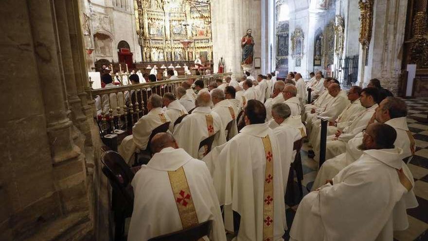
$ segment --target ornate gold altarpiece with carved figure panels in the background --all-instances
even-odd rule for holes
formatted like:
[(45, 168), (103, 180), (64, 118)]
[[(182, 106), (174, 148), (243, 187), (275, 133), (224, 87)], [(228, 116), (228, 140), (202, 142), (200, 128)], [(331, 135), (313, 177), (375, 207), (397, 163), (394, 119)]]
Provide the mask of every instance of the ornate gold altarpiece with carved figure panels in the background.
[[(143, 62), (212, 60), (210, 0), (134, 0)], [(185, 40), (193, 40), (187, 48)]]

